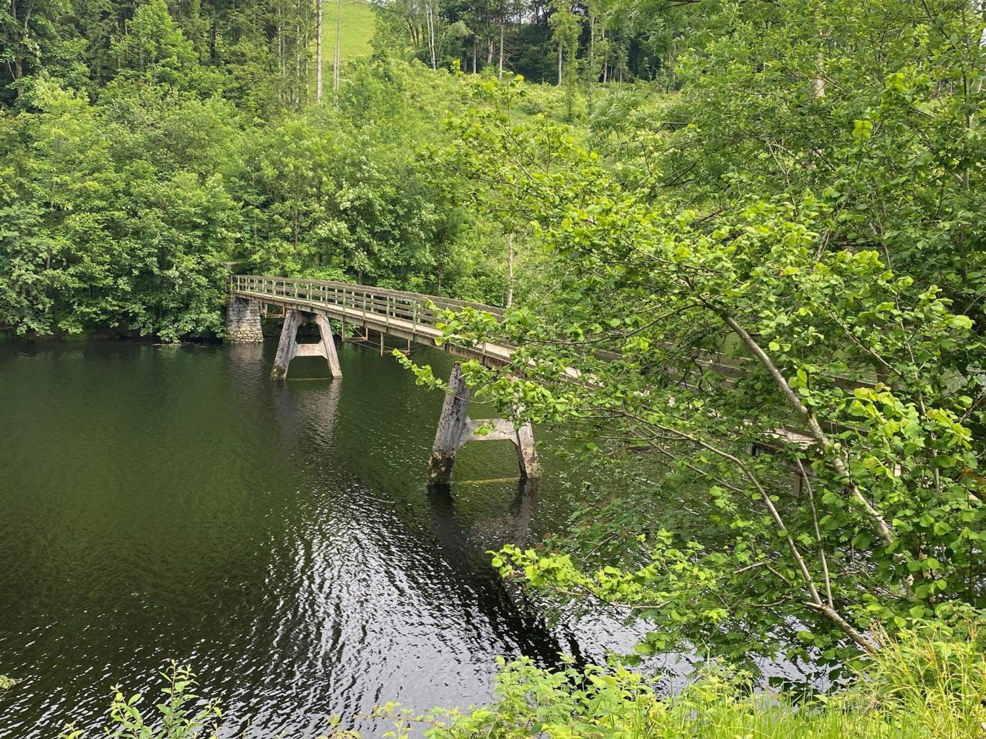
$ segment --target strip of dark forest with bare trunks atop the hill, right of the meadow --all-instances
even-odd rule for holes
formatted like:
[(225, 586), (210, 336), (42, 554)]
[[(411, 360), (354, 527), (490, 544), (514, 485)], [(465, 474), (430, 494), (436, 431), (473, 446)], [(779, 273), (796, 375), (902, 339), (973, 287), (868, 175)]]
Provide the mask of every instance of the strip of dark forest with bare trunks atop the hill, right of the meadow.
[(433, 68), (493, 68), (559, 85), (647, 80), (673, 89), (678, 54), (705, 15), (688, 5), (694, 3), (378, 0), (378, 42)]

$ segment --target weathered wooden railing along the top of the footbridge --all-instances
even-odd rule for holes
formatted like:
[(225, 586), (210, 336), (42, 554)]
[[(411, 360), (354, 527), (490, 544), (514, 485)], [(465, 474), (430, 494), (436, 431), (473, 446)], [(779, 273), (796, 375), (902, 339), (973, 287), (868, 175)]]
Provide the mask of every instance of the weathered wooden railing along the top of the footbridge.
[(473, 307), (502, 316), (503, 309), (481, 302), (458, 301), (453, 298), (405, 293), (400, 290), (373, 288), (329, 280), (270, 277), (265, 275), (231, 275), (230, 288), (236, 293), (265, 296), (275, 302), (301, 302), (313, 305), (333, 305), (355, 311), (364, 317), (371, 315), (407, 321), (412, 326), (434, 326), (440, 311)]

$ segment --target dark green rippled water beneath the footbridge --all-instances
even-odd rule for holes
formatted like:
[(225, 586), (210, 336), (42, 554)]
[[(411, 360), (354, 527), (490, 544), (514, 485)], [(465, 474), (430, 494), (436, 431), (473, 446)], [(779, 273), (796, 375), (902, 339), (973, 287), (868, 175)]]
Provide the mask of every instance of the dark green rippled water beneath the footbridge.
[[(564, 521), (552, 459), (524, 490), (508, 442), (469, 444), (429, 491), (441, 396), (354, 345), (341, 380), (303, 358), (274, 383), (273, 350), (0, 345), (0, 674), (24, 681), (0, 737), (99, 725), (111, 685), (171, 658), (231, 731), (315, 735), (387, 700), (482, 703), (495, 655), (577, 648), (484, 554)], [(469, 482), (491, 478), (512, 479)]]

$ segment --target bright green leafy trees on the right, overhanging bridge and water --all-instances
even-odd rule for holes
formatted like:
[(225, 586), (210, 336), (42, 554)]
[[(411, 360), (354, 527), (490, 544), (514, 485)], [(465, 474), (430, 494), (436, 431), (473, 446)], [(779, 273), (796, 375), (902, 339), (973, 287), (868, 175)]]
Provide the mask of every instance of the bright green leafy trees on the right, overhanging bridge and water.
[(434, 155), (547, 252), (541, 300), (449, 317), (519, 347), (469, 381), (601, 482), (571, 536), (494, 564), (653, 623), (643, 653), (837, 664), (875, 621), (986, 605), (983, 21), (701, 6), (681, 96), (609, 96), (597, 151), (491, 81)]

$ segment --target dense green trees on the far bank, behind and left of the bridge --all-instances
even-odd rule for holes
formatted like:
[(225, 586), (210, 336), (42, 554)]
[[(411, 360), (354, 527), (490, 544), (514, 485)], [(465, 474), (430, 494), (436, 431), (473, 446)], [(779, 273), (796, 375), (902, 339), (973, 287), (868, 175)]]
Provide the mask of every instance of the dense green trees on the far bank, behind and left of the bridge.
[(271, 48), (288, 41), (265, 35), (283, 9), (152, 0), (103, 35), (86, 29), (105, 8), (43, 26), (55, 10), (34, 9), (32, 54), (0, 95), (0, 326), (215, 335), (224, 262), (505, 300), (498, 236), (407, 145), (443, 140), (452, 78), (366, 58), (336, 104), (305, 105), (312, 74), (281, 74)]

